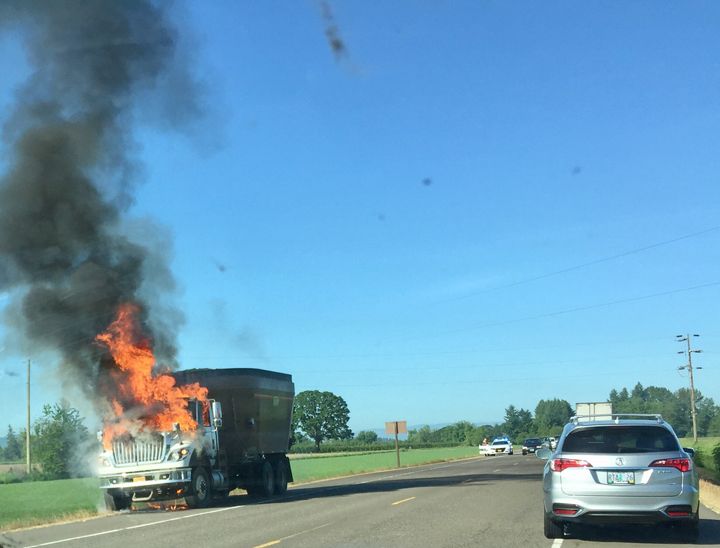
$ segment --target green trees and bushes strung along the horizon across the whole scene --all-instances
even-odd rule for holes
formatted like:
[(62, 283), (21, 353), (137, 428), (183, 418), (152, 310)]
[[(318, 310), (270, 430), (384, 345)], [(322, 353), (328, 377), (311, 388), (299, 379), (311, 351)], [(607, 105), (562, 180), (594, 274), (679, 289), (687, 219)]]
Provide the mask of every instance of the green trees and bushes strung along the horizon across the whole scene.
[[(698, 435), (720, 436), (720, 407), (699, 391), (695, 394)], [(658, 413), (679, 437), (692, 433), (690, 391), (686, 388), (673, 392), (637, 383), (631, 390), (611, 390), (607, 401), (612, 403), (614, 413)], [(505, 408), (503, 422), (476, 425), (460, 421), (438, 429), (422, 426), (408, 433), (404, 445), (478, 445), (484, 438), (500, 435), (517, 443), (529, 437), (558, 436), (572, 414), (570, 403), (558, 398), (540, 400), (532, 412), (511, 404)], [(321, 444), (328, 443), (346, 444), (348, 448), (388, 443), (369, 430), (354, 435), (348, 426), (349, 419), (350, 410), (341, 396), (318, 390), (300, 392), (293, 405), (291, 445), (320, 451)], [(92, 452), (94, 438), (80, 412), (67, 402), (43, 407), (42, 416), (32, 425), (30, 440), (32, 461), (40, 465), (36, 476), (59, 479), (88, 472), (79, 454)], [(0, 447), (0, 462), (24, 460), (25, 431), (16, 432), (8, 426), (5, 447)]]

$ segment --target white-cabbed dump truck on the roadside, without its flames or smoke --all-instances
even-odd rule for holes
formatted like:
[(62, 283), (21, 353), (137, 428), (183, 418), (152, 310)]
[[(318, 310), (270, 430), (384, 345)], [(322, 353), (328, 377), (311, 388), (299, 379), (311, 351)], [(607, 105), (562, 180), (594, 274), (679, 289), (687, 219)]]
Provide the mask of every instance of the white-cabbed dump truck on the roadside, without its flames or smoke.
[[(190, 369), (172, 374), (197, 383), (206, 398), (188, 398), (194, 429), (123, 433), (103, 439), (100, 487), (109, 509), (132, 502), (185, 498), (203, 507), (235, 488), (271, 496), (292, 481), (287, 451), (294, 385), (261, 369)], [(223, 415), (224, 412), (224, 415)], [(112, 432), (106, 431), (103, 436)]]

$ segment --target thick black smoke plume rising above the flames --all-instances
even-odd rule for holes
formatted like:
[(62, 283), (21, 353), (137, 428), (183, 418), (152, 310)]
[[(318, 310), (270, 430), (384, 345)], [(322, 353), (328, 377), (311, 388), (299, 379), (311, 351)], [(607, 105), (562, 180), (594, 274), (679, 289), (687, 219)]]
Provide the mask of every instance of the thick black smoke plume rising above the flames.
[[(3, 131), (9, 165), (0, 179), (0, 293), (11, 295), (4, 320), (31, 348), (59, 352), (62, 378), (89, 395), (107, 363), (95, 336), (121, 303), (141, 307), (159, 357), (174, 362), (177, 320), (161, 317), (147, 298), (173, 288), (168, 260), (122, 233), (139, 174), (132, 128), (144, 98), (180, 118), (197, 111), (192, 86), (183, 87), (182, 100), (168, 89), (168, 81), (178, 82), (168, 6), (0, 4), (0, 32), (21, 37), (31, 65)], [(158, 280), (164, 287), (150, 287)]]

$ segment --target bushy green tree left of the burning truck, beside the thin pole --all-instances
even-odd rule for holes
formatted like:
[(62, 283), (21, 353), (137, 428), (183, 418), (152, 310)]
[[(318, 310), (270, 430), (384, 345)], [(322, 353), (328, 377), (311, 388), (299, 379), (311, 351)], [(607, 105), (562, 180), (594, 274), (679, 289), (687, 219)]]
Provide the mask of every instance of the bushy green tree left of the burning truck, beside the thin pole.
[(78, 461), (76, 451), (89, 440), (80, 412), (65, 401), (45, 405), (42, 417), (35, 421), (33, 429), (33, 460), (42, 464), (43, 473), (53, 479), (73, 475), (70, 466)]

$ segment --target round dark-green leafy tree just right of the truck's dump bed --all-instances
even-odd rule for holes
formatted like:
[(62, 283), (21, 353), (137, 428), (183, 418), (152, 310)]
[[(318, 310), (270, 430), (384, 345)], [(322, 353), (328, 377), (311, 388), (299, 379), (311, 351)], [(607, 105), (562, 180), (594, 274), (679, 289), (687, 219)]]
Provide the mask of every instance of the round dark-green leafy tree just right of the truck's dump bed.
[(295, 396), (293, 432), (299, 431), (312, 439), (317, 451), (324, 440), (351, 439), (349, 420), (347, 403), (332, 392), (306, 390)]

